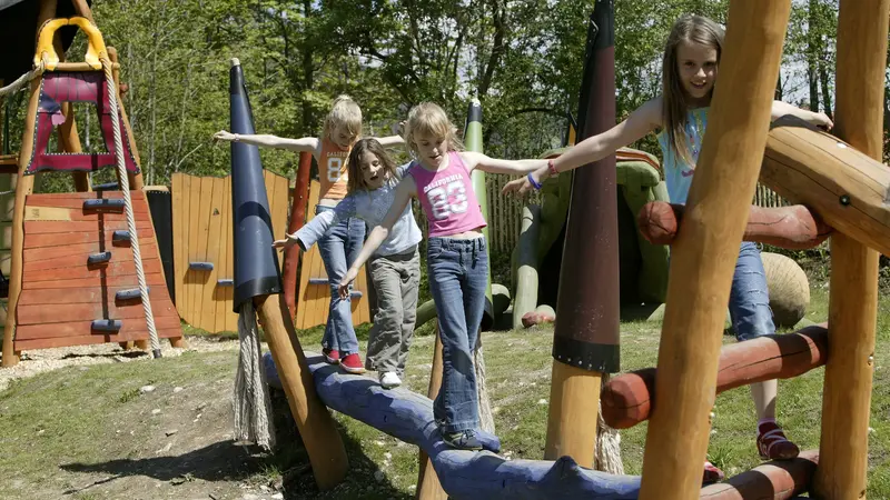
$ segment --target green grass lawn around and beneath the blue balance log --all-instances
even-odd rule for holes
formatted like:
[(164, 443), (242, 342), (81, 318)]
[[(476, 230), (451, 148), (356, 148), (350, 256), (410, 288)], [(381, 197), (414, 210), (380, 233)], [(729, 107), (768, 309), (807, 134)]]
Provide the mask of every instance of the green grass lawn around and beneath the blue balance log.
[[(823, 321), (827, 309), (825, 291), (814, 289), (808, 318)], [(429, 377), (429, 327), (418, 331), (406, 373), (407, 388), (418, 392), (426, 391)], [(890, 367), (884, 354), (890, 300), (884, 298), (878, 329), (868, 494), (890, 498)], [(653, 366), (659, 333), (659, 324), (622, 323), (622, 369)], [(320, 328), (301, 332), (304, 348), (318, 350), (320, 334)], [(367, 330), (360, 329), (359, 336), (364, 352)], [(488, 332), (483, 339), (502, 454), (540, 459), (550, 398), (551, 331)], [(122, 491), (132, 498), (208, 498), (206, 491), (215, 491), (217, 499), (241, 498), (245, 488), (276, 481), (284, 482), (286, 498), (413, 498), (416, 448), (342, 414), (335, 417), (353, 467), (343, 484), (325, 493), (314, 489), (297, 443), (286, 442), (285, 451), (274, 458), (231, 444), (228, 398), (235, 359), (234, 351), (188, 352), (151, 362), (70, 367), (13, 383), (0, 392), (0, 477), (6, 478), (0, 498), (85, 500), (120, 498)], [(818, 369), (780, 382), (779, 418), (802, 449), (819, 446), (822, 379), (823, 369)], [(146, 383), (158, 390), (139, 394)], [(184, 389), (174, 392), (174, 387)], [(156, 409), (160, 412), (154, 413)], [(730, 476), (756, 466), (755, 417), (748, 390), (719, 396), (714, 411), (710, 459)], [(166, 436), (171, 428), (177, 433)], [(641, 424), (621, 434), (626, 473), (640, 473), (645, 433)], [(172, 444), (165, 451), (165, 443)]]

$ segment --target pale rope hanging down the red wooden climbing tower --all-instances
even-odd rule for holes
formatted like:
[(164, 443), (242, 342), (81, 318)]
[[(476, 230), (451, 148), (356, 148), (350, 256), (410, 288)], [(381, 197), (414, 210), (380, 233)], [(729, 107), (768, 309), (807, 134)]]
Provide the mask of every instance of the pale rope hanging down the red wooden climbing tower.
[(130, 181), (127, 177), (127, 166), (123, 162), (123, 141), (120, 134), (120, 120), (118, 113), (118, 97), (115, 87), (115, 77), (111, 73), (111, 61), (101, 59), (105, 69), (105, 79), (108, 87), (108, 107), (115, 116), (111, 118), (111, 130), (115, 134), (115, 159), (117, 160), (118, 178), (120, 179), (120, 192), (123, 193), (123, 210), (127, 214), (127, 230), (130, 232), (130, 246), (132, 248), (132, 260), (136, 264), (136, 278), (139, 280), (139, 293), (142, 297), (142, 310), (146, 313), (148, 323), (148, 336), (151, 339), (151, 353), (155, 358), (160, 358), (160, 343), (158, 342), (158, 331), (155, 329), (155, 317), (151, 314), (151, 301), (148, 300), (148, 287), (146, 286), (146, 273), (142, 270), (142, 257), (139, 253), (139, 238), (136, 233), (136, 220), (132, 217), (132, 200), (130, 199)]

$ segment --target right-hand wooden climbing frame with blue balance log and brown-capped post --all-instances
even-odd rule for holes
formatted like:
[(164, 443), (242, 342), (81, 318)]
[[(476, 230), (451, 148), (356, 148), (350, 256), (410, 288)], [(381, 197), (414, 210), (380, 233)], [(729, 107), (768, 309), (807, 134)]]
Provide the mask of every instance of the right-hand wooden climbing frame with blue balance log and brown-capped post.
[[(373, 381), (334, 373), (318, 362), (299, 367), (299, 373), (314, 372), (314, 387), (303, 387), (307, 398), (317, 393), (316, 403), (428, 451), (441, 486), (452, 498), (744, 499), (793, 498), (805, 491), (825, 499), (861, 498), (877, 318), (876, 250), (890, 250), (890, 211), (883, 203), (890, 171), (879, 161), (890, 1), (840, 2), (834, 132), (843, 140), (790, 119), (768, 128), (789, 13), (790, 1), (730, 3), (723, 78), (712, 100), (689, 202), (671, 240), (671, 276), (682, 278), (668, 283), (657, 374), (649, 383), (645, 379), (629, 383), (636, 388), (631, 394), (647, 392), (654, 398), (646, 412), (650, 424), (641, 478), (584, 469), (595, 446), (590, 416), (599, 398), (592, 396), (600, 393), (601, 378), (619, 369), (617, 202), (610, 196), (616, 189), (614, 163), (609, 164), (614, 157), (602, 160), (602, 168), (578, 171), (573, 180), (563, 254), (573, 266), (571, 271), (563, 267), (560, 282), (564, 292), (560, 296), (571, 300), (557, 303), (561, 321), (553, 349), (547, 460), (505, 462), (491, 451), (444, 449), (428, 434), (435, 427), (424, 412), (428, 399), (402, 390), (382, 391)], [(587, 112), (578, 113), (581, 138), (614, 122), (612, 24), (612, 2), (597, 1), (582, 84), (589, 93), (582, 99)], [(829, 323), (724, 348), (719, 356), (733, 257), (745, 232), (759, 171), (761, 181), (807, 207), (813, 220), (824, 222), (822, 229), (831, 228)], [(817, 230), (809, 241), (827, 233)], [(783, 239), (795, 248), (808, 244), (793, 234)], [(590, 258), (591, 241), (599, 243), (595, 258)], [(739, 357), (750, 364), (748, 370), (729, 369)], [(823, 362), (820, 451), (805, 451), (798, 459), (768, 463), (702, 489), (701, 464), (718, 388), (793, 377)], [(285, 374), (277, 359), (276, 364)], [(724, 366), (719, 386), (719, 368)], [(614, 381), (604, 403), (617, 387)], [(283, 379), (286, 390), (288, 383)], [(296, 392), (289, 390), (288, 396)], [(672, 404), (654, 404), (659, 400)], [(315, 433), (297, 422), (303, 436)], [(322, 481), (319, 486), (324, 487)], [(419, 498), (442, 498), (439, 493), (422, 493), (418, 488)]]

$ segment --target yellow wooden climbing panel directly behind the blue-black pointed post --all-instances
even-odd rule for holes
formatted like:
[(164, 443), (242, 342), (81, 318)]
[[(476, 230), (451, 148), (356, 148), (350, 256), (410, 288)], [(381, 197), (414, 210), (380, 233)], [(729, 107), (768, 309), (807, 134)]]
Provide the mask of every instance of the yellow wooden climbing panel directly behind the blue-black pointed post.
[[(263, 171), (276, 239), (287, 230), (290, 208), (288, 180)], [(211, 333), (238, 331), (233, 312), (231, 177), (172, 177), (175, 296), (179, 316)], [(190, 262), (209, 262), (212, 269), (189, 269)], [(281, 263), (280, 259), (278, 261)]]

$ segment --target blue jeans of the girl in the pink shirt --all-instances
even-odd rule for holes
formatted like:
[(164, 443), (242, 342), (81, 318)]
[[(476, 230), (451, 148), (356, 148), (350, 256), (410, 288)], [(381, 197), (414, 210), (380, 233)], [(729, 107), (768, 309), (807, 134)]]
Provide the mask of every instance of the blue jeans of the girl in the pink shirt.
[(431, 238), (427, 244), (429, 291), (442, 338), (442, 388), (433, 402), (433, 416), (442, 432), (478, 427), (473, 349), (488, 287), (485, 247), (484, 238)]

